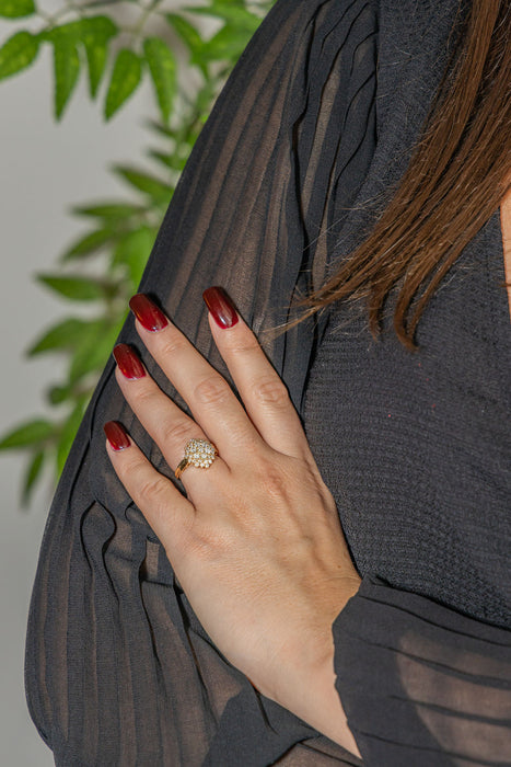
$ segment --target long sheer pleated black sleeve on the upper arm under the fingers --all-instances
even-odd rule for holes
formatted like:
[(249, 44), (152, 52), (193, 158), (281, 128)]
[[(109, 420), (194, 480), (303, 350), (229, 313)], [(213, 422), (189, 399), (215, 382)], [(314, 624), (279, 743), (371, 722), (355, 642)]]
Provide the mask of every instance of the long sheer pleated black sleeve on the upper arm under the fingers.
[[(322, 279), (328, 248), (320, 228), (335, 231), (367, 175), (375, 41), (367, 0), (276, 3), (197, 141), (139, 288), (229, 380), (201, 298), (222, 285), (297, 408), (314, 328), (302, 323), (276, 341), (265, 331), (288, 319), (295, 291)], [(131, 317), (119, 341), (139, 345)], [(26, 642), (31, 714), (58, 765), (272, 764), (317, 733), (262, 699), (212, 645), (117, 479), (103, 433), (111, 419), (173, 474), (114, 368), (111, 359), (49, 512)]]

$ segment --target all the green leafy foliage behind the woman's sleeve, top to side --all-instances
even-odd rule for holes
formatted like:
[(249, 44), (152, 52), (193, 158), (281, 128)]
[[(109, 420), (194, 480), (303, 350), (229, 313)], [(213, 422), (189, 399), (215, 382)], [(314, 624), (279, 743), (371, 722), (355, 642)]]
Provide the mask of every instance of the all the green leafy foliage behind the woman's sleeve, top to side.
[[(118, 15), (119, 7), (128, 3), (140, 11), (130, 26), (108, 14), (115, 9)], [(27, 455), (22, 506), (28, 505), (47, 462), (54, 466), (55, 481), (60, 476), (125, 322), (128, 299), (138, 288), (179, 174), (225, 77), (270, 4), (210, 0), (204, 7), (170, 10), (162, 0), (67, 0), (48, 15), (36, 8), (34, 0), (0, 0), (0, 16), (43, 22), (37, 32), (18, 30), (0, 47), (0, 80), (26, 70), (40, 47), (50, 45), (55, 118), (62, 117), (80, 71), (86, 67), (92, 100), (97, 99), (106, 80), (103, 114), (111, 119), (149, 76), (160, 121), (148, 123), (148, 127), (158, 135), (159, 142), (164, 142), (163, 149), (160, 145), (147, 151), (150, 168), (147, 163), (113, 165), (112, 172), (129, 188), (129, 196), (73, 207), (71, 215), (86, 221), (89, 228), (63, 250), (55, 271), (36, 275), (40, 285), (59, 299), (68, 305), (88, 304), (94, 313), (88, 319), (67, 313), (25, 352), (28, 358), (58, 354), (67, 360), (67, 369), (63, 380), (45, 391), (46, 401), (59, 414), (55, 419), (30, 419), (0, 436), (0, 450), (23, 450)], [(98, 9), (101, 15), (96, 15)], [(201, 16), (217, 20), (212, 36), (201, 31)], [(151, 18), (159, 21), (161, 36), (146, 34)], [(179, 45), (185, 57), (175, 55)], [(179, 83), (189, 81), (191, 72), (198, 85), (190, 91)], [(88, 270), (91, 263), (95, 276)]]

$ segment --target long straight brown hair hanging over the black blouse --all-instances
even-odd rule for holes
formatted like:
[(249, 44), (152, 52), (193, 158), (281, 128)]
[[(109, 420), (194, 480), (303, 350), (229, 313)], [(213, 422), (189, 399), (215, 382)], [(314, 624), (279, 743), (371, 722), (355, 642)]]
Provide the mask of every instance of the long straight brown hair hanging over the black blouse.
[(511, 2), (473, 0), (408, 168), (369, 237), (286, 329), (334, 301), (364, 298), (381, 329), (394, 288), (394, 329), (414, 340), (423, 309), (500, 204), (511, 171)]

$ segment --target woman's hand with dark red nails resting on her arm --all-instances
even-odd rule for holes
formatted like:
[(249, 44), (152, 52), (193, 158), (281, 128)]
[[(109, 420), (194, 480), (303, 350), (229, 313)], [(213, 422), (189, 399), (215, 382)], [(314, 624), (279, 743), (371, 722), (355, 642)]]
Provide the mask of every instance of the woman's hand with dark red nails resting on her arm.
[[(207, 470), (186, 469), (185, 497), (115, 422), (105, 426), (113, 443), (107, 440), (107, 451), (218, 649), (263, 695), (345, 745), (329, 725), (311, 721), (303, 698), (314, 698), (315, 678), (323, 690), (315, 706), (327, 706), (326, 698), (338, 703), (332, 623), (360, 579), (284, 384), (225, 294), (209, 288), (205, 300), (244, 408), (140, 294), (130, 301), (140, 339), (195, 421), (125, 344), (114, 352), (116, 378), (173, 470), (194, 437), (212, 442), (219, 456)], [(340, 703), (335, 716), (342, 718)], [(356, 751), (355, 741), (347, 746)]]

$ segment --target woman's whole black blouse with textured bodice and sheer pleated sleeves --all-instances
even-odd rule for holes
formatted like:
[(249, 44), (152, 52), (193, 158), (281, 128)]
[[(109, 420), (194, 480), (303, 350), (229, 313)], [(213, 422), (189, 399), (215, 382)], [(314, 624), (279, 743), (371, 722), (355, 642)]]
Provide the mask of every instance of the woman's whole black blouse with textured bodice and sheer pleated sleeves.
[[(465, 3), (466, 5), (466, 3)], [(510, 334), (499, 211), (432, 300), (419, 353), (338, 308), (271, 340), (399, 180), (457, 0), (279, 0), (185, 169), (140, 290), (229, 379), (201, 293), (223, 285), (287, 382), (363, 577), (333, 626), (363, 764), (511, 765)], [(456, 12), (458, 16), (456, 16)], [(119, 341), (137, 346), (129, 318)], [(144, 348), (159, 385), (186, 405)], [(106, 366), (51, 504), (26, 689), (58, 765), (359, 765), (212, 644), (105, 454)]]

